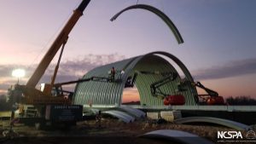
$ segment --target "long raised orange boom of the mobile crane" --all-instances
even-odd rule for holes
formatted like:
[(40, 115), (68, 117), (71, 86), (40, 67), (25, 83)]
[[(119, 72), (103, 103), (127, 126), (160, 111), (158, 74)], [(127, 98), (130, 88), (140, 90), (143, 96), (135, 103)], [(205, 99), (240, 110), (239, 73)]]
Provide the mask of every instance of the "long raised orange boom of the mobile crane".
[(83, 2), (79, 4), (79, 7), (73, 11), (73, 15), (67, 21), (67, 24), (62, 28), (58, 37), (55, 38), (54, 43), (52, 43), (49, 50), (44, 55), (44, 58), (38, 64), (38, 67), (35, 72), (33, 72), (32, 77), (27, 81), (26, 87), (36, 87), (39, 80), (44, 75), (45, 70), (49, 66), (50, 61), (53, 60), (57, 51), (61, 48), (61, 45), (66, 43), (68, 34), (71, 32), (73, 26), (77, 23), (80, 16), (83, 15), (84, 9), (87, 7), (88, 3), (90, 3), (90, 0), (83, 0)]

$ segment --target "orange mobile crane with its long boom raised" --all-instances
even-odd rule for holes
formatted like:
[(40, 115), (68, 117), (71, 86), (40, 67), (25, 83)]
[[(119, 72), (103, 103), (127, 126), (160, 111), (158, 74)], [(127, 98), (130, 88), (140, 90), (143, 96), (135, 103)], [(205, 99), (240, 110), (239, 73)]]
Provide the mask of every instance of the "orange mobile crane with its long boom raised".
[[(64, 46), (67, 43), (68, 35), (72, 31), (73, 26), (75, 26), (79, 20), (80, 16), (83, 15), (84, 9), (89, 3), (90, 0), (83, 0), (79, 4), (79, 7), (73, 11), (72, 16), (62, 28), (59, 35), (55, 38), (55, 41), (44, 55), (44, 58), (38, 64), (35, 72), (32, 73), (32, 76), (29, 78), (26, 85), (15, 85), (15, 90), (21, 91), (23, 95), (21, 101), (17, 102), (35, 107), (38, 112), (35, 117), (54, 122), (74, 122), (82, 118), (83, 106), (72, 105), (70, 99), (65, 98), (63, 95), (53, 95), (52, 92), (61, 61), (61, 55), (63, 53)], [(44, 75), (49, 63), (53, 60), (59, 49), (61, 49), (61, 53), (57, 65), (55, 66), (55, 72), (51, 83), (41, 84), (41, 89), (36, 89), (36, 85)]]

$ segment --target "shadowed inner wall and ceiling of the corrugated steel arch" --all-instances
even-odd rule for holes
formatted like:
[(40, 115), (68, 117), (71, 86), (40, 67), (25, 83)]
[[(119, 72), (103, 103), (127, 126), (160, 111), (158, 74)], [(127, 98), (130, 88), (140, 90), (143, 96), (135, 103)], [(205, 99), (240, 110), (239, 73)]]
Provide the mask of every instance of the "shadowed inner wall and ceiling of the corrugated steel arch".
[[(158, 55), (144, 55), (139, 61), (137, 61), (136, 66), (133, 68), (134, 71), (146, 71), (146, 72), (176, 72), (175, 68), (165, 59), (161, 58)], [(132, 73), (133, 73), (132, 72)], [(146, 106), (161, 106), (163, 105), (163, 100), (151, 95), (150, 84), (164, 78), (161, 75), (154, 74), (138, 74), (136, 85), (137, 90), (140, 94), (141, 104)], [(179, 77), (177, 77), (171, 83), (163, 85), (160, 89), (164, 93), (173, 94), (176, 89), (172, 88), (172, 85), (178, 83)]]

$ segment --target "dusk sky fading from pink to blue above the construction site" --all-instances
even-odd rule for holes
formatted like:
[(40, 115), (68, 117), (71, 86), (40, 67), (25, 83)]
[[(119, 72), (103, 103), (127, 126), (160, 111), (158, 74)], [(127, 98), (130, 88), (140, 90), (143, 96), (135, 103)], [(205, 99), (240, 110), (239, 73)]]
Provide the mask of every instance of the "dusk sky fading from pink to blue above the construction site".
[[(0, 0), (0, 94), (32, 75), (81, 0)], [(187, 66), (195, 81), (219, 95), (256, 98), (256, 1), (138, 0), (164, 12), (177, 26), (178, 44), (155, 14), (132, 9), (137, 0), (92, 0), (69, 34), (56, 82), (81, 78), (96, 66), (153, 51), (166, 51)], [(57, 58), (57, 56), (55, 56)], [(49, 83), (56, 59), (40, 83)], [(134, 93), (134, 91), (132, 91)]]

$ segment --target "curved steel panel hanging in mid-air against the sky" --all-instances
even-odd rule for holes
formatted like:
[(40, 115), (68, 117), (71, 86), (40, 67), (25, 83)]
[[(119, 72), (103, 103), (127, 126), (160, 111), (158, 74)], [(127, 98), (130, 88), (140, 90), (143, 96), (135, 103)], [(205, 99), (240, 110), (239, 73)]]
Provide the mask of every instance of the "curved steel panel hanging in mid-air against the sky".
[(146, 9), (148, 11), (151, 11), (152, 13), (158, 15), (162, 20), (166, 22), (166, 25), (169, 26), (171, 29), (172, 33), (177, 39), (177, 43), (183, 43), (183, 37), (181, 37), (180, 33), (177, 30), (177, 27), (173, 24), (172, 20), (169, 19), (169, 17), (161, 12), (159, 9), (155, 9), (154, 7), (146, 4), (137, 4), (137, 5), (132, 5), (130, 7), (127, 7), (123, 10), (121, 10), (118, 14), (113, 15), (113, 17), (110, 19), (111, 21), (116, 20), (120, 14), (125, 12), (126, 10), (129, 9)]

